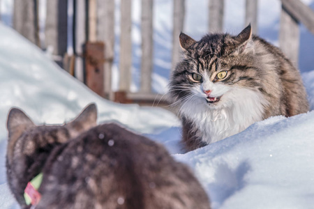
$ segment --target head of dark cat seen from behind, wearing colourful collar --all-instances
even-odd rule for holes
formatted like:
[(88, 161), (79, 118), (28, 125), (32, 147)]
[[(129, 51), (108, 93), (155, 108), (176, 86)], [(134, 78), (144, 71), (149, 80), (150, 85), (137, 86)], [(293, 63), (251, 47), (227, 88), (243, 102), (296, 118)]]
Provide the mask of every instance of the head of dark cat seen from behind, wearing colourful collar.
[(55, 146), (96, 126), (97, 108), (89, 104), (73, 121), (63, 125), (35, 125), (20, 109), (10, 109), (7, 120), (7, 178), (17, 201), (29, 180), (40, 173)]

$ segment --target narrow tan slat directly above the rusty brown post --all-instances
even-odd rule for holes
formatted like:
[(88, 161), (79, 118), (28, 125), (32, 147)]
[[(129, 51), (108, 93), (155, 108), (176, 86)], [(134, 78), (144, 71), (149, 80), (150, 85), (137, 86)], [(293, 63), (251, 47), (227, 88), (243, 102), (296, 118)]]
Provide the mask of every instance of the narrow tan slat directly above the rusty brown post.
[(95, 42), (97, 26), (97, 1), (89, 0), (89, 41)]

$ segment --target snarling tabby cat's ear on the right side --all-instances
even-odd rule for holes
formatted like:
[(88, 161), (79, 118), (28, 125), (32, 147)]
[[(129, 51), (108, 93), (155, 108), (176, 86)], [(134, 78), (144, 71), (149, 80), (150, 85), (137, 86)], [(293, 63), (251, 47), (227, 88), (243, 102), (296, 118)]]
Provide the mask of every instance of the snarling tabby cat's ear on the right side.
[(252, 40), (252, 27), (248, 24), (246, 28), (234, 38), (239, 44), (237, 47), (237, 53), (254, 52), (254, 42)]

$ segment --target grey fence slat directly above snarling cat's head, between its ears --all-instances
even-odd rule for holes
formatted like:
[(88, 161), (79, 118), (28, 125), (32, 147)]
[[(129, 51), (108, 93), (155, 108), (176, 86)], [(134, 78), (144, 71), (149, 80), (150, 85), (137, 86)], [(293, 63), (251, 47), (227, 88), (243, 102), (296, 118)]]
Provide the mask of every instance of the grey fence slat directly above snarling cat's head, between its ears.
[(209, 32), (223, 32), (224, 0), (209, 0)]

